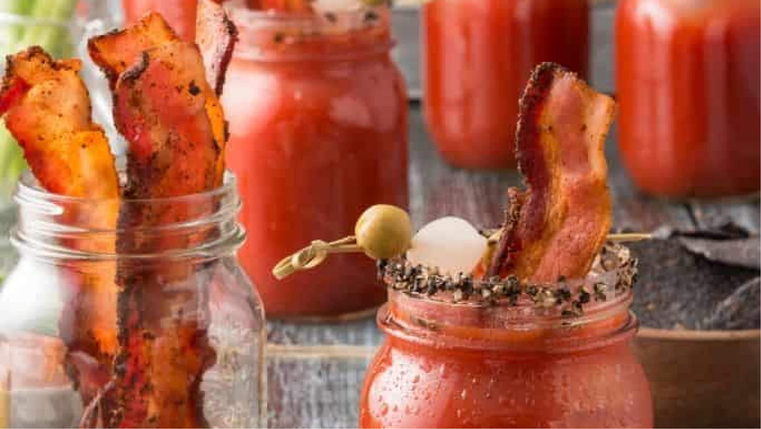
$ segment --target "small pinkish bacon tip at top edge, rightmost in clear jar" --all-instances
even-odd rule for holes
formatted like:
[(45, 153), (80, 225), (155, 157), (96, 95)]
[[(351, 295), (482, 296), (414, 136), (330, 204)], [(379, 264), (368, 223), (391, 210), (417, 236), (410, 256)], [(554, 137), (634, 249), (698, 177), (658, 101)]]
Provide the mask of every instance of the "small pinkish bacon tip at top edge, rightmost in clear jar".
[(198, 2), (196, 43), (201, 49), (206, 66), (206, 81), (222, 95), (224, 74), (230, 65), (233, 49), (237, 43), (237, 28), (227, 11), (212, 0)]

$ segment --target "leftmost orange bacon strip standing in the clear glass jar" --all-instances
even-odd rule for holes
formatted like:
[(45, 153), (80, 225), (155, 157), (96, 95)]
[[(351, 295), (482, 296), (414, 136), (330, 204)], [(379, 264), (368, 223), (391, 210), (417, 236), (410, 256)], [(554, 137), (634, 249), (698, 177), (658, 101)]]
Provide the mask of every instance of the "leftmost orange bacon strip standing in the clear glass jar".
[[(77, 60), (55, 61), (39, 47), (9, 56), (0, 114), (43, 188), (97, 200), (86, 208), (67, 207), (65, 216), (91, 229), (113, 230), (119, 181), (107, 138), (92, 121), (80, 65)], [(115, 246), (113, 236), (67, 245), (108, 254)], [(116, 267), (112, 262), (72, 262), (62, 270), (79, 289), (65, 304), (59, 330), (68, 348), (68, 372), (88, 402), (102, 386), (98, 380), (110, 372), (116, 350)]]

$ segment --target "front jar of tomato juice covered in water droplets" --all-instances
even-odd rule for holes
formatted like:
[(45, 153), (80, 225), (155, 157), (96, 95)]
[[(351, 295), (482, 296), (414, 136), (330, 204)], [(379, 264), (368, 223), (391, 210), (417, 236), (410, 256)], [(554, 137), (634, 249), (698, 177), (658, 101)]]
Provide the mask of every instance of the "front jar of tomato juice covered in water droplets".
[(386, 340), (365, 376), (360, 427), (652, 427), (650, 388), (629, 346), (638, 327), (631, 288), (584, 284), (589, 292), (568, 298), (585, 303), (572, 316), (553, 310), (557, 295), (546, 292), (560, 284), (534, 286), (514, 304), (393, 285), (377, 317)]

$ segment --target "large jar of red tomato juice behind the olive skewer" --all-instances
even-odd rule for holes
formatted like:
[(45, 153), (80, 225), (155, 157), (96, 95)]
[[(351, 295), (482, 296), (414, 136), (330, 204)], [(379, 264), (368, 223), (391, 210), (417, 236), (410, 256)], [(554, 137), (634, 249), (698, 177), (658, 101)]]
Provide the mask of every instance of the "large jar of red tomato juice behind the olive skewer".
[(314, 237), (352, 231), (375, 203), (407, 206), (406, 90), (389, 56), (390, 13), (240, 9), (234, 20), (240, 42), (222, 102), (248, 233), (240, 260), (269, 316), (374, 308), (385, 291), (361, 254), (280, 282), (271, 270)]

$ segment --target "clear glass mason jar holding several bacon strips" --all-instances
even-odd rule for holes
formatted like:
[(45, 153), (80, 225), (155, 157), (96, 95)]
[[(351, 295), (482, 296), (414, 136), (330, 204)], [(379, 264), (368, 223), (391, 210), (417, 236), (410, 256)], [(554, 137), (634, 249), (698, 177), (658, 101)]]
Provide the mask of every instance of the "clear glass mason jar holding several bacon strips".
[[(15, 198), (21, 256), (0, 292), (0, 422), (263, 425), (264, 313), (237, 262), (233, 175), (205, 194), (92, 200), (50, 194), (27, 173)], [(174, 216), (107, 222), (144, 210)]]

